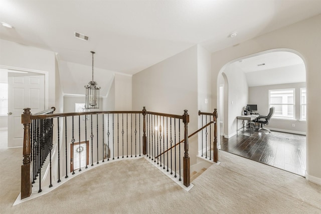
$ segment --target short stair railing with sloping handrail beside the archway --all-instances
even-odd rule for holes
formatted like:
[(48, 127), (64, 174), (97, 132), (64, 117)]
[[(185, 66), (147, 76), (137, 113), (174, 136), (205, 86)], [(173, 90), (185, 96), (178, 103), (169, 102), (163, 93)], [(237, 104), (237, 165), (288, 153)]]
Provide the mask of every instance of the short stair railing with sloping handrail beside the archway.
[[(199, 111), (199, 115), (202, 115), (202, 127), (199, 128), (197, 131), (193, 132), (191, 135), (188, 136), (188, 138), (194, 136), (195, 134), (199, 133), (202, 131), (202, 151), (201, 151), (201, 156), (204, 156), (204, 145), (205, 145), (205, 158), (208, 158), (207, 154), (208, 154), (208, 150), (212, 150), (212, 146), (211, 146), (211, 139), (212, 139), (212, 134), (214, 136), (214, 142), (213, 142), (213, 161), (214, 162), (218, 162), (218, 148), (217, 148), (217, 125), (216, 125), (216, 121), (217, 121), (217, 109), (214, 109), (213, 113), (205, 113), (205, 112), (201, 112)], [(211, 121), (211, 116), (213, 116), (213, 121)], [(207, 123), (206, 125), (203, 125), (203, 119), (205, 118), (205, 121), (207, 123), (207, 121), (210, 121), (209, 123)], [(214, 129), (213, 129), (213, 133), (212, 133), (212, 128), (211, 125), (214, 124)], [(210, 126), (210, 137), (209, 140), (210, 142), (208, 143), (208, 131), (207, 128), (208, 126)], [(203, 133), (203, 130), (205, 129), (205, 134)], [(205, 135), (205, 143), (204, 142), (204, 135)], [(173, 148), (176, 148), (176, 146), (180, 146), (181, 143), (183, 143), (184, 140), (179, 141), (177, 144), (171, 146), (170, 148), (168, 148), (167, 150), (164, 150), (164, 152), (162, 152), (161, 154), (157, 154), (157, 156), (155, 158), (162, 158), (162, 155), (164, 155), (166, 152), (171, 151)], [(209, 145), (209, 147), (208, 147)], [(212, 155), (211, 152), (209, 151), (209, 159), (212, 159)]]

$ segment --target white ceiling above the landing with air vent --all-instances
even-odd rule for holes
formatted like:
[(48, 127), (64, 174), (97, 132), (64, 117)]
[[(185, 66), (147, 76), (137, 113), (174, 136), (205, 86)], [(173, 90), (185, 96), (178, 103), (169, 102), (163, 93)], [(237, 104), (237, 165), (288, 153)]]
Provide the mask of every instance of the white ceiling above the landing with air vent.
[(321, 1), (309, 0), (0, 3), (0, 21), (14, 26), (0, 26), (1, 39), (86, 66), (95, 51), (95, 67), (130, 75), (196, 44), (215, 52), (321, 13)]

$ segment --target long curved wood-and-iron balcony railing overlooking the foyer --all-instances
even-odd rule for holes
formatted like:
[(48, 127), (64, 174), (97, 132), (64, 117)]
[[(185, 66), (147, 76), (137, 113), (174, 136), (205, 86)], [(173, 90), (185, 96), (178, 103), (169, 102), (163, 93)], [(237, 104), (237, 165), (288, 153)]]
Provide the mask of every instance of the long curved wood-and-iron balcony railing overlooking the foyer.
[[(44, 114), (46, 113), (46, 114)], [(156, 120), (155, 120), (156, 119)], [(58, 113), (42, 112), (31, 114), (30, 108), (25, 108), (22, 114), (24, 124), (23, 165), (21, 173), (21, 198), (29, 197), (32, 193), (32, 183), (41, 187), (41, 168), (44, 161), (50, 166), (50, 185), (52, 178), (61, 179), (72, 176), (90, 165), (114, 159), (134, 158), (146, 155), (155, 158), (155, 154), (165, 150), (172, 144), (175, 136), (184, 140), (184, 155), (181, 151), (175, 153), (175, 158), (164, 156), (163, 164), (173, 170), (173, 161), (179, 162), (179, 180), (181, 180), (181, 160), (183, 160), (184, 185), (190, 185), (190, 157), (188, 154), (188, 123), (187, 110), (183, 115), (142, 111), (96, 111)], [(158, 126), (151, 131), (148, 126)], [(163, 128), (162, 128), (163, 127)], [(166, 129), (165, 129), (166, 127)], [(184, 135), (181, 134), (184, 132)], [(153, 133), (155, 133), (153, 138)], [(157, 136), (157, 145), (151, 142)], [(151, 137), (151, 138), (150, 138)], [(165, 144), (165, 138), (167, 142)], [(162, 141), (163, 139), (163, 141)], [(170, 140), (169, 140), (170, 139)], [(159, 140), (159, 144), (158, 144)], [(162, 144), (163, 142), (163, 144)], [(175, 142), (175, 141), (174, 141)], [(57, 174), (52, 174), (51, 149), (57, 144), (58, 160)], [(163, 145), (163, 147), (162, 147)], [(177, 155), (177, 156), (176, 156)], [(167, 161), (165, 161), (167, 158)], [(95, 161), (94, 161), (95, 160)], [(158, 161), (158, 160), (157, 160)], [(171, 165), (171, 166), (170, 166)], [(175, 177), (177, 168), (175, 166)], [(34, 186), (37, 186), (34, 184)], [(35, 187), (34, 187), (35, 188)]]

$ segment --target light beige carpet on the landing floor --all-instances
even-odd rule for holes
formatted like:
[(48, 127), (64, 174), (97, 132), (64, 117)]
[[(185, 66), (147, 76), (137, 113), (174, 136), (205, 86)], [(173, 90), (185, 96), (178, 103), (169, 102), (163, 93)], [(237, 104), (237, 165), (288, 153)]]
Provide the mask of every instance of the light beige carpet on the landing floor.
[[(220, 151), (185, 191), (144, 158), (104, 164), (48, 194), (12, 206), (22, 149), (0, 150), (1, 213), (321, 213), (321, 186)], [(18, 156), (18, 157), (17, 157)]]

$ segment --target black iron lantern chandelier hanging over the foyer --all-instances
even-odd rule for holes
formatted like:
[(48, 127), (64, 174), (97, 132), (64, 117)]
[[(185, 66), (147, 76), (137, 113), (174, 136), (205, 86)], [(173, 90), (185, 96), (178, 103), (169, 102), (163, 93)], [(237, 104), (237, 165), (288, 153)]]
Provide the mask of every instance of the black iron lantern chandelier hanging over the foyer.
[(95, 52), (91, 51), (92, 53), (92, 81), (88, 83), (86, 88), (86, 103), (85, 109), (91, 108), (99, 108), (99, 89), (100, 87), (96, 87), (97, 83), (94, 81), (94, 54)]

